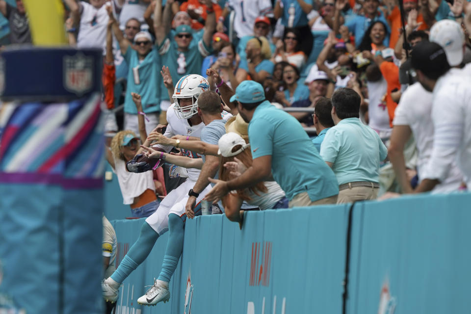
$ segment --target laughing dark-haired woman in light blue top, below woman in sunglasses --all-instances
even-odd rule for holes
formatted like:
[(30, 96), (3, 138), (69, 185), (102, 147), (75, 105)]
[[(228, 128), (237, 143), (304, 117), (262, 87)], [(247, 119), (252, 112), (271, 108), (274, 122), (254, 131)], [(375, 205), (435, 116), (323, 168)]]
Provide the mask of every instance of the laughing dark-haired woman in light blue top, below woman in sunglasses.
[(298, 84), (299, 70), (287, 64), (283, 67), (283, 85), (275, 94), (275, 100), (284, 107), (290, 107), (292, 103), (309, 97), (309, 89), (304, 84)]

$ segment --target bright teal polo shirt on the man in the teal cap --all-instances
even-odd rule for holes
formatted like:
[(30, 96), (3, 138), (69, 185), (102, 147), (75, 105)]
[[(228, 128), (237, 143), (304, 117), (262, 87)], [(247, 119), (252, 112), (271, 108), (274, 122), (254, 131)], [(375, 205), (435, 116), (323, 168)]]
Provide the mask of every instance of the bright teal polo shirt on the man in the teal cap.
[(339, 193), (334, 173), (296, 118), (264, 101), (255, 109), (248, 130), (252, 157), (271, 156), (273, 178), (289, 200), (302, 192), (311, 201)]

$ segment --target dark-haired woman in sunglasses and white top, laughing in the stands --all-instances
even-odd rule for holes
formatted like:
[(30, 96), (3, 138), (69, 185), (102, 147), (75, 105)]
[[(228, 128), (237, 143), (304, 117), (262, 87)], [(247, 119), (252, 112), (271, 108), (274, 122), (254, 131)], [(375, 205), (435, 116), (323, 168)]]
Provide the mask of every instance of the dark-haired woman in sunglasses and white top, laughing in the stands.
[(306, 64), (306, 54), (301, 50), (301, 38), (299, 30), (296, 28), (286, 28), (283, 41), (276, 43), (276, 51), (273, 55), (273, 63), (286, 61), (298, 69), (302, 69)]

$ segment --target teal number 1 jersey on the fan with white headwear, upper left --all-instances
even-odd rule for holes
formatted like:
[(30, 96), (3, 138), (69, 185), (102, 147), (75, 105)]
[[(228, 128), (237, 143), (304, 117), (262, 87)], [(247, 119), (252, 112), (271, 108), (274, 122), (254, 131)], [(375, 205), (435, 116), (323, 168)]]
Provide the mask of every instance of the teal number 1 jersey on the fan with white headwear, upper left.
[(137, 52), (128, 47), (123, 55), (128, 70), (128, 87), (124, 100), (124, 112), (137, 114), (136, 105), (132, 101), (131, 92), (137, 93), (142, 97), (142, 109), (144, 112), (155, 112), (160, 110), (160, 89), (163, 85), (160, 75), (160, 56), (154, 47), (144, 60), (139, 61)]

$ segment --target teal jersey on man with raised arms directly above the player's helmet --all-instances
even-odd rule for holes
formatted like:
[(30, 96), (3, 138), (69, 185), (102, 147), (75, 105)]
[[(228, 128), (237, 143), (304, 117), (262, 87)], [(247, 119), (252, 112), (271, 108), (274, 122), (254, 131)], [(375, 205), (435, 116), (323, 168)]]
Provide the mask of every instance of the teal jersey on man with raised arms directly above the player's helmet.
[[(203, 39), (200, 39), (197, 45), (190, 45), (185, 52), (178, 51), (177, 43), (170, 35), (168, 35), (158, 47), (162, 65), (168, 67), (174, 84), (185, 75), (200, 73), (203, 59), (208, 56), (211, 51), (212, 48), (207, 47)], [(158, 73), (160, 75), (160, 72)], [(168, 100), (167, 88), (163, 82), (159, 86), (161, 99)]]

